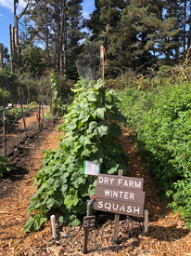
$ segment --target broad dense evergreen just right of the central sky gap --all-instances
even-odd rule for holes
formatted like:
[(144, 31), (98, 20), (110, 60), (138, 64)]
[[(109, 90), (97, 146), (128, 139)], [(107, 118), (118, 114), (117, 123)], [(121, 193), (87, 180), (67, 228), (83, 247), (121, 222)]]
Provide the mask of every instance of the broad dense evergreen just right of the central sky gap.
[(151, 66), (158, 56), (177, 47), (177, 19), (165, 19), (163, 1), (100, 0), (100, 20), (108, 28), (107, 74), (116, 76), (128, 67)]

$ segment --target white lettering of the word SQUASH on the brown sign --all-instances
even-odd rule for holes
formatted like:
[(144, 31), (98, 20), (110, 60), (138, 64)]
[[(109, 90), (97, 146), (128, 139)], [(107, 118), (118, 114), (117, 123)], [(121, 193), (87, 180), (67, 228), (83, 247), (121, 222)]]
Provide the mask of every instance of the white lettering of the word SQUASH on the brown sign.
[(125, 206), (121, 205), (121, 208), (119, 208), (119, 203), (118, 202), (106, 202), (104, 203), (103, 201), (99, 201), (97, 204), (98, 209), (108, 209), (109, 211), (117, 211), (118, 209), (120, 210), (121, 214), (127, 213), (136, 213), (140, 214), (140, 207), (136, 206)]

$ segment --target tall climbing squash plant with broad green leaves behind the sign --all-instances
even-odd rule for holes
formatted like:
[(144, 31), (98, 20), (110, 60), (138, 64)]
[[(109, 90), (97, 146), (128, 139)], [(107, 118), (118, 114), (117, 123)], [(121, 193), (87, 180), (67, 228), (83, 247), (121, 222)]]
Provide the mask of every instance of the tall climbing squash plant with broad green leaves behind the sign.
[(59, 209), (59, 222), (80, 224), (79, 216), (86, 212), (96, 188), (96, 177), (90, 182), (89, 176), (83, 175), (84, 160), (101, 163), (102, 173), (126, 172), (122, 163), (127, 163), (128, 155), (122, 150), (118, 125), (125, 117), (117, 108), (120, 99), (113, 89), (106, 92), (103, 103), (103, 85), (101, 79), (97, 83), (81, 80), (72, 89), (74, 101), (59, 127), (65, 135), (57, 150), (45, 152), (43, 167), (34, 178), (38, 187), (28, 212), (40, 209), (40, 214), (30, 217), (25, 232), (39, 229), (47, 220), (46, 213), (55, 209)]

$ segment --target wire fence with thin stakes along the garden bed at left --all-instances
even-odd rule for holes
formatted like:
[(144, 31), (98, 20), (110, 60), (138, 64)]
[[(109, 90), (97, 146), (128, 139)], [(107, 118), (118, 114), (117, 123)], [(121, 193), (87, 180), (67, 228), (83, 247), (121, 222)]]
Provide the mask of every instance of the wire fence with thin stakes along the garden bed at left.
[[(63, 101), (67, 109), (72, 100), (66, 98)], [(21, 107), (23, 111), (20, 113)], [(45, 105), (42, 101), (39, 105), (18, 103), (14, 108), (0, 107), (0, 154), (11, 156), (18, 150), (32, 149), (32, 140), (44, 128), (54, 129), (58, 116), (58, 112), (53, 113), (51, 104)]]

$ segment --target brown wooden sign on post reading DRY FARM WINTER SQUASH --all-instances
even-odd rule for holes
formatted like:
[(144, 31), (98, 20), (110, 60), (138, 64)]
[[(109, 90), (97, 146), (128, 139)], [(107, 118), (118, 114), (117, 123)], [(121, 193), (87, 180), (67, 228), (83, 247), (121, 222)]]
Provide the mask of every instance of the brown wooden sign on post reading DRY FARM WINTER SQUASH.
[(143, 217), (145, 192), (143, 179), (98, 174), (96, 185), (95, 209), (113, 212), (115, 227), (113, 241), (118, 241), (120, 214)]

